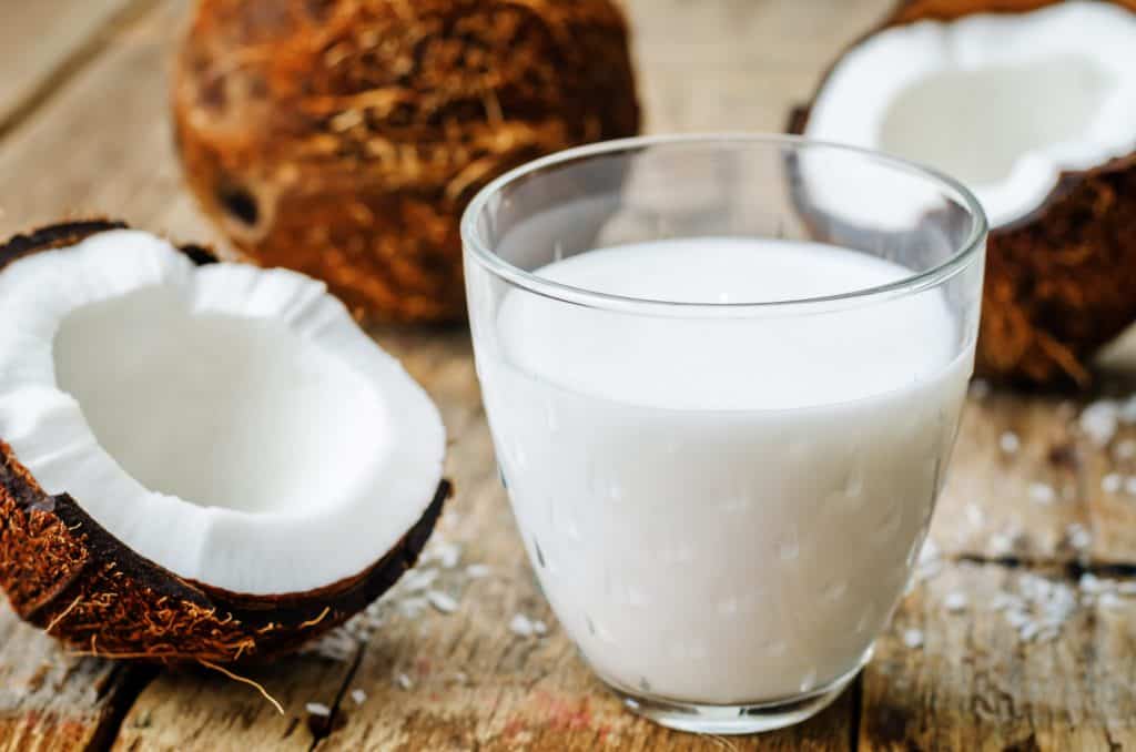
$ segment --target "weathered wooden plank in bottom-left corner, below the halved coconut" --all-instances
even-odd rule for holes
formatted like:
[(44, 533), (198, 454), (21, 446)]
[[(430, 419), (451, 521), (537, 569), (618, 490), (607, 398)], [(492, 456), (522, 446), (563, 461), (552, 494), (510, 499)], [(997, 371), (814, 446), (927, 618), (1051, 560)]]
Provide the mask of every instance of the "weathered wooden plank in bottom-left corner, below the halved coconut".
[(65, 655), (0, 602), (0, 752), (86, 749), (128, 685), (125, 667)]

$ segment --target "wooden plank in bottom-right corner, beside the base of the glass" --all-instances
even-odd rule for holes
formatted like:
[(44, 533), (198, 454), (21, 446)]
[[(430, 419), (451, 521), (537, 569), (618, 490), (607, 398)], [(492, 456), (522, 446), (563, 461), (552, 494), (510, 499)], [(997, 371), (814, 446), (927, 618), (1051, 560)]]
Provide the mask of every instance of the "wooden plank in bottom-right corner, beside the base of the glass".
[[(1062, 570), (1045, 574), (1069, 587)], [(864, 670), (860, 749), (1136, 745), (1136, 599), (1101, 596), (1077, 607), (1055, 640), (1027, 642), (992, 607), (1038, 576), (960, 563), (917, 590)], [(967, 604), (951, 612), (947, 599), (959, 595)], [(908, 630), (918, 630), (921, 647), (904, 644)]]

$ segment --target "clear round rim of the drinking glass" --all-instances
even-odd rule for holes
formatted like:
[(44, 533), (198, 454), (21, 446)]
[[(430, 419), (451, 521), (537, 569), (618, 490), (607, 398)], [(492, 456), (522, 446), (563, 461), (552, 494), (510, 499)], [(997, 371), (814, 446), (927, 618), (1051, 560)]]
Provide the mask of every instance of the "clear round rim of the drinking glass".
[[(818, 148), (858, 154), (874, 161), (882, 162), (889, 168), (918, 175), (926, 181), (936, 183), (944, 194), (954, 194), (953, 198), (960, 200), (971, 217), (970, 232), (968, 233), (966, 240), (960, 243), (959, 247), (955, 248), (954, 251), (942, 262), (930, 267), (929, 269), (925, 269), (924, 271), (916, 271), (883, 285), (874, 285), (870, 287), (811, 298), (793, 298), (755, 302), (691, 302), (605, 293), (542, 277), (510, 264), (502, 257), (498, 256), (490, 249), (488, 243), (485, 242), (485, 239), (477, 229), (477, 220), (486, 210), (488, 202), (495, 195), (500, 194), (503, 189), (524, 177), (535, 175), (557, 165), (578, 161), (580, 159), (588, 159), (617, 152), (632, 152), (649, 147), (675, 144), (765, 145), (779, 147), (783, 149), (790, 148), (795, 151)], [(824, 141), (790, 134), (742, 132), (641, 135), (629, 139), (600, 141), (583, 147), (565, 149), (526, 162), (495, 178), (477, 192), (477, 194), (469, 202), (469, 206), (466, 207), (461, 217), (461, 241), (465, 249), (463, 252), (467, 256), (473, 257), (487, 271), (523, 290), (541, 295), (542, 298), (549, 298), (551, 300), (584, 306), (587, 308), (624, 312), (654, 312), (680, 316), (704, 315), (712, 317), (745, 312), (791, 314), (804, 310), (811, 311), (815, 309), (830, 309), (833, 307), (840, 308), (845, 304), (883, 302), (895, 298), (913, 295), (924, 292), (925, 290), (937, 287), (964, 269), (984, 247), (988, 232), (989, 226), (986, 212), (975, 194), (958, 179), (933, 167), (909, 161), (874, 149), (854, 147), (834, 141)]]

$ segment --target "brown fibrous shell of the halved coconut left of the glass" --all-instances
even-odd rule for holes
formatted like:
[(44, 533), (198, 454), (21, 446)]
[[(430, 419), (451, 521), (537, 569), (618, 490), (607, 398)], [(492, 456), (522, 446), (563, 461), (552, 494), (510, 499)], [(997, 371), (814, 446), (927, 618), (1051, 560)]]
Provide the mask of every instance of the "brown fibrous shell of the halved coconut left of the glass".
[[(81, 222), (17, 235), (0, 247), (12, 261), (125, 227)], [(194, 262), (217, 259), (182, 248)], [(450, 495), (443, 481), (398, 544), (365, 571), (303, 593), (242, 595), (177, 577), (139, 555), (69, 494), (49, 495), (0, 437), (0, 588), (24, 620), (77, 651), (161, 662), (231, 663), (295, 650), (386, 592), (417, 561)]]

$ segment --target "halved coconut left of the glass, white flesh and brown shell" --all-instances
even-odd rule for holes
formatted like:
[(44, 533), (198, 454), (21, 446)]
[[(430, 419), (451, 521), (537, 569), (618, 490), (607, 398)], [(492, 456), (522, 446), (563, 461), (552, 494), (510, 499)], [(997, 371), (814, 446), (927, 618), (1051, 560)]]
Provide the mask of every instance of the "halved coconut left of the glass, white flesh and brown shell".
[(0, 587), (77, 651), (294, 650), (414, 566), (426, 393), (321, 283), (109, 222), (0, 247)]

